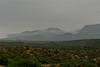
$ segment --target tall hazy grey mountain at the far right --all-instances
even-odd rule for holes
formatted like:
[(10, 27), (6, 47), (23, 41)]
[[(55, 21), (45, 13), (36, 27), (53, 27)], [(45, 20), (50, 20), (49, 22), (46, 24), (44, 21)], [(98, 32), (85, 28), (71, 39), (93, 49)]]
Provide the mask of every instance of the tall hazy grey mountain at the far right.
[(87, 25), (77, 35), (81, 39), (100, 39), (100, 24)]

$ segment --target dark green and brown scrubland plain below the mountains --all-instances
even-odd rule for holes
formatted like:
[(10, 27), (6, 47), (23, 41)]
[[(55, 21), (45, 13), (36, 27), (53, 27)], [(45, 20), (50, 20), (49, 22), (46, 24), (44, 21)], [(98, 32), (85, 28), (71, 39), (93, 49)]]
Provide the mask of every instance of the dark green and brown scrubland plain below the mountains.
[(100, 67), (100, 40), (0, 42), (0, 65), (7, 67)]

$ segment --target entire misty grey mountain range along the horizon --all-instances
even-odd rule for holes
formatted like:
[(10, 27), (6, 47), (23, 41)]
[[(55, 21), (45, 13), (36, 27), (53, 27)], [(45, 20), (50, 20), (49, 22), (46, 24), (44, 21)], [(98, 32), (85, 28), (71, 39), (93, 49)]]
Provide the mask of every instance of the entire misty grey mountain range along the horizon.
[(24, 31), (22, 33), (10, 34), (3, 40), (71, 41), (80, 39), (100, 39), (100, 24), (86, 25), (74, 34), (59, 28), (48, 28), (45, 30)]

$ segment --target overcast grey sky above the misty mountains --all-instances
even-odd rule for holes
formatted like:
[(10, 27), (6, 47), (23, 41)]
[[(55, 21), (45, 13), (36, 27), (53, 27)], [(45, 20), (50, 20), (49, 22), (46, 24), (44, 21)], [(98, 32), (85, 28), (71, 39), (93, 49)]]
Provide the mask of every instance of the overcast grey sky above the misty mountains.
[(74, 31), (100, 23), (100, 0), (0, 0), (0, 37), (58, 27)]

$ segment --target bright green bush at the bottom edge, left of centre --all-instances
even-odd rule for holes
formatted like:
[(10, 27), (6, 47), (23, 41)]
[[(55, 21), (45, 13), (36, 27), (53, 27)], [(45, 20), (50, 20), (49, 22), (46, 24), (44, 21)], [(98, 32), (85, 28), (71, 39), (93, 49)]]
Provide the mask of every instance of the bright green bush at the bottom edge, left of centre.
[(37, 60), (17, 57), (15, 59), (9, 59), (8, 67), (41, 67), (40, 62)]

